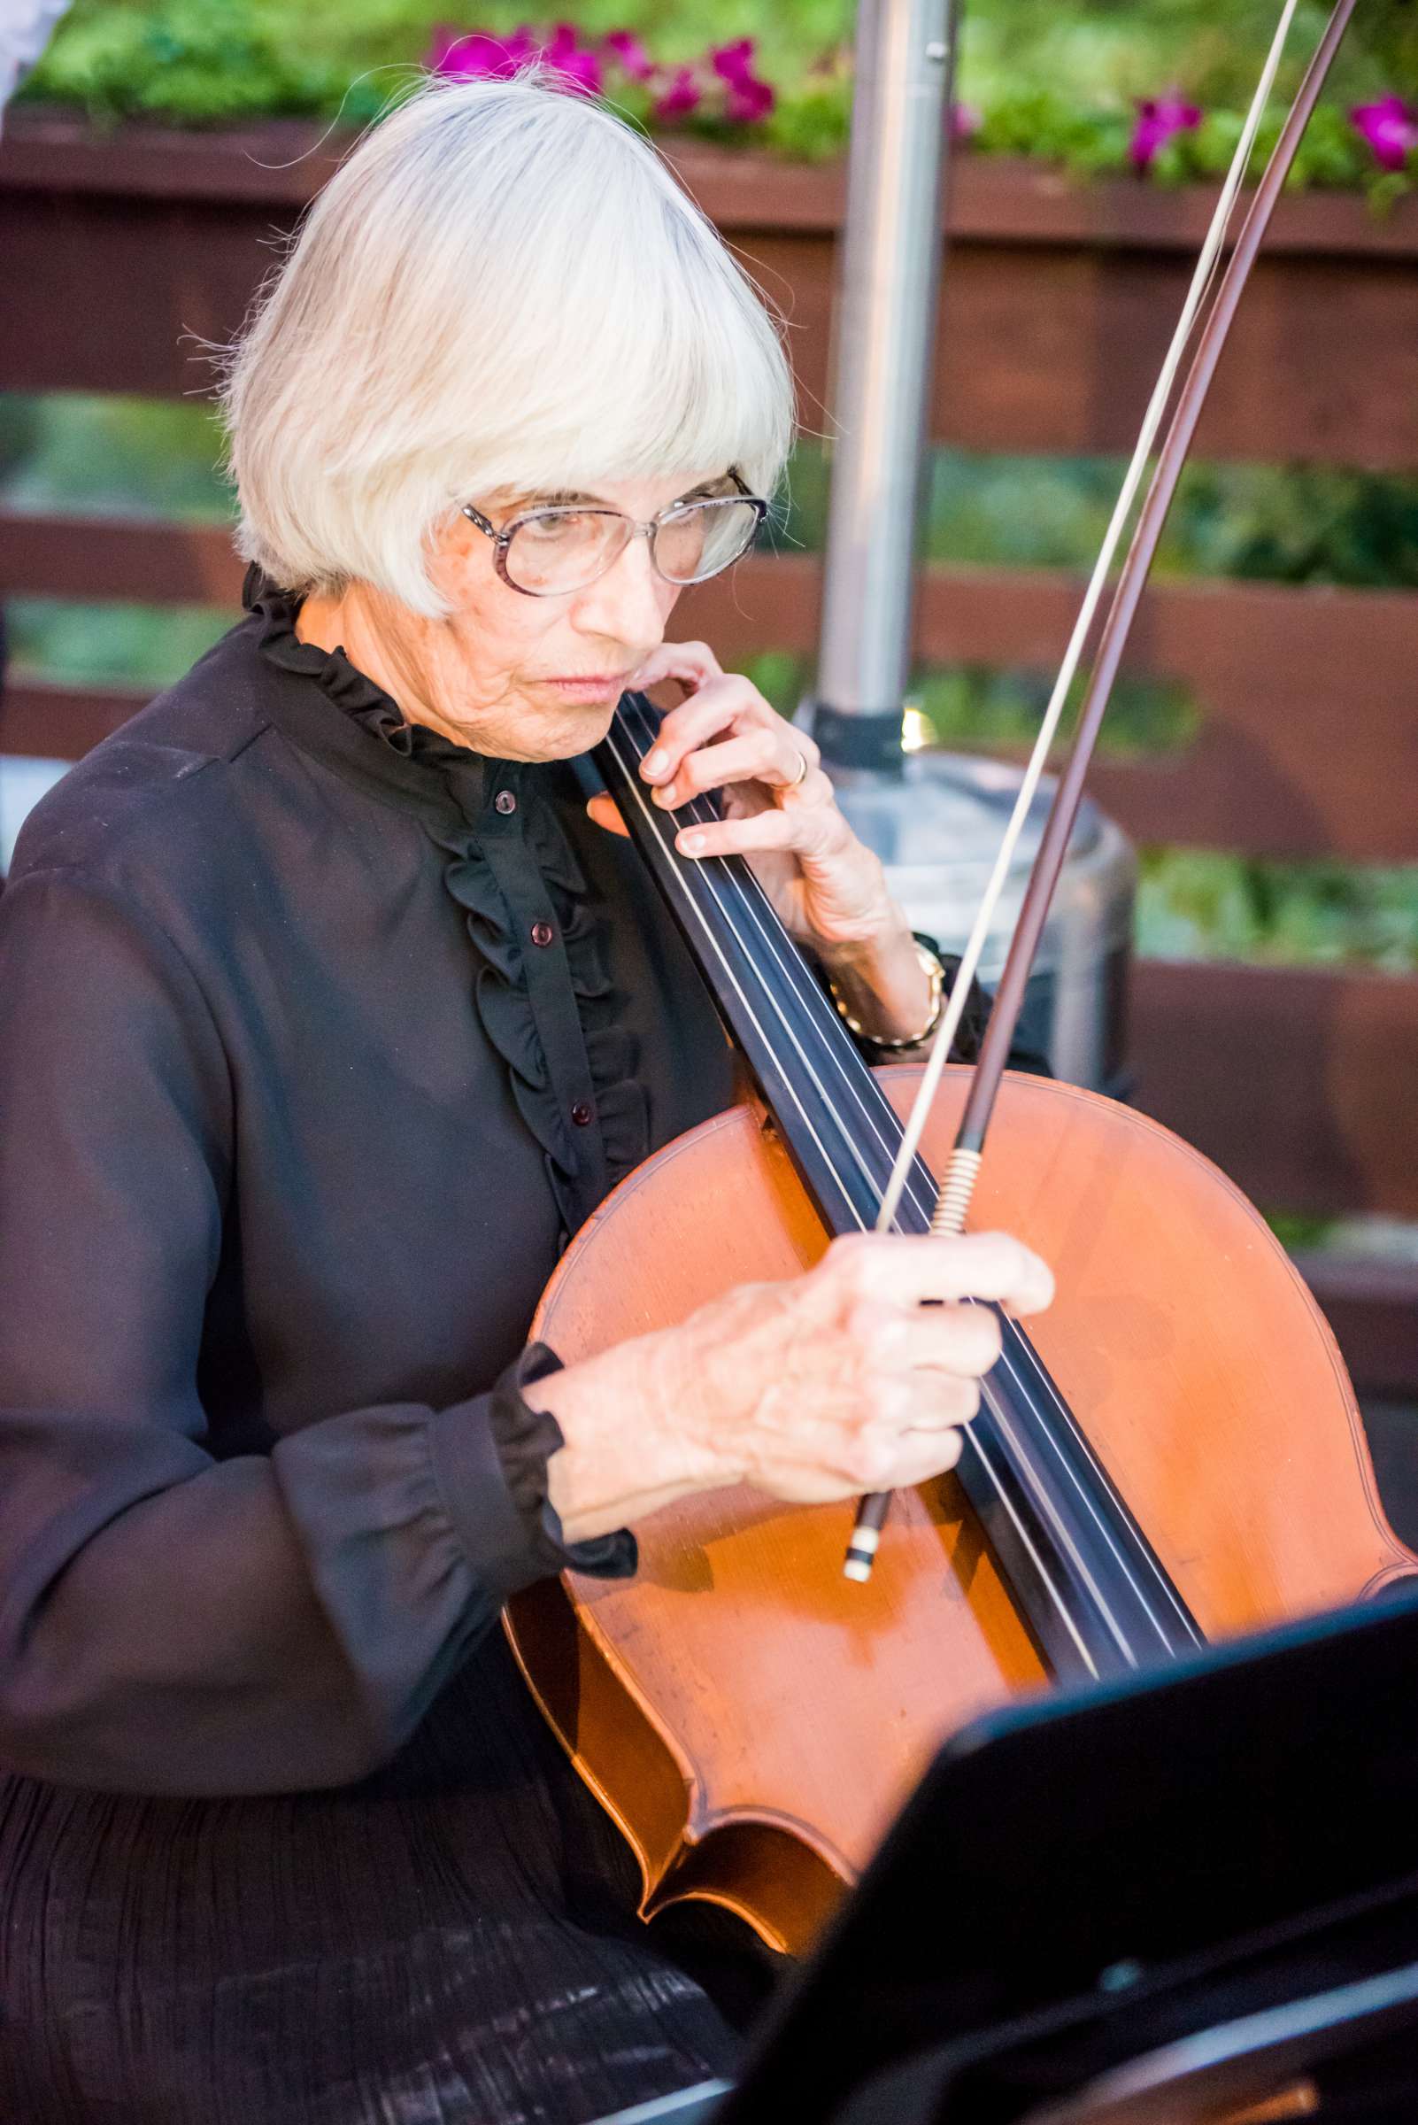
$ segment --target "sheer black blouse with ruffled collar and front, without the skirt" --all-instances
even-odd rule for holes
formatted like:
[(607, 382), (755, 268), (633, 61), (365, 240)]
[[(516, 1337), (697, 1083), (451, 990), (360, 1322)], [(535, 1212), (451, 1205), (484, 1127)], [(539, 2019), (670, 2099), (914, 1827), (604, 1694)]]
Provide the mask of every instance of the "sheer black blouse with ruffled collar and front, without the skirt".
[(0, 901), (0, 1757), (138, 1791), (359, 1776), (560, 1562), (490, 1390), (567, 1235), (730, 1099), (575, 769), (246, 597)]

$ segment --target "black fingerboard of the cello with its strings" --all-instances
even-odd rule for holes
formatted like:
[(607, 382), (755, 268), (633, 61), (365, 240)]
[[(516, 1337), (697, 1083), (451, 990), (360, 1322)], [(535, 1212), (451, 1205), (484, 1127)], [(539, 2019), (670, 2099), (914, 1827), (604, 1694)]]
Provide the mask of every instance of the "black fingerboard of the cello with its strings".
[[(650, 801), (639, 763), (656, 725), (652, 703), (626, 695), (596, 767), (824, 1226), (870, 1232), (900, 1120), (747, 863), (690, 863), (675, 850), (681, 827), (720, 814), (713, 797), (673, 814)], [(936, 1182), (917, 1158), (896, 1228), (928, 1232), (934, 1205)], [(1089, 1681), (1195, 1651), (1201, 1630), (1038, 1352), (1017, 1322), (998, 1318), (1004, 1352), (983, 1381), (955, 1475), (1044, 1660), (1059, 1679)]]

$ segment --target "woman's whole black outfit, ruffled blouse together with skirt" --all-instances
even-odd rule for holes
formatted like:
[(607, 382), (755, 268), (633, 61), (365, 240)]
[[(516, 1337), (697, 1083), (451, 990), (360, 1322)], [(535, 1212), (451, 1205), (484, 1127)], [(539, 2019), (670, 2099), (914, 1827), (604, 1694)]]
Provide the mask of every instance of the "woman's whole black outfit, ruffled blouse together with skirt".
[(0, 2112), (590, 2119), (730, 2040), (490, 1630), (516, 1383), (732, 1056), (577, 765), (246, 606), (0, 899)]

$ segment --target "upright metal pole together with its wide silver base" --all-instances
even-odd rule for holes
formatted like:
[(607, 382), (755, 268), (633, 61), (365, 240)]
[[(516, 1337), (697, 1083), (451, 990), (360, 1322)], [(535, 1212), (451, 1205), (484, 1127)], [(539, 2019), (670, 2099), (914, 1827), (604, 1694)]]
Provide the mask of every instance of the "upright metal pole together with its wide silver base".
[[(800, 708), (853, 831), (881, 856), (913, 929), (947, 952), (966, 941), (1019, 786), (1017, 769), (996, 761), (902, 750), (959, 15), (962, 0), (860, 0), (817, 688)], [(987, 984), (1044, 803), (981, 965)], [(1127, 842), (1085, 808), (1030, 990), (1030, 1033), (1072, 1084), (1119, 1086), (1131, 895)]]

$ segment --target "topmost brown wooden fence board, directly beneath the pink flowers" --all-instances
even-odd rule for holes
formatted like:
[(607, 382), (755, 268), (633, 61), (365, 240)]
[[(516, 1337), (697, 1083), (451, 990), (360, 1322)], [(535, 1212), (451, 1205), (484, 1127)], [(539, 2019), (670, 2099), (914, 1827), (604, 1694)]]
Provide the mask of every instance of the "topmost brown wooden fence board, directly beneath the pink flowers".
[[(208, 387), (195, 342), (231, 338), (333, 168), (314, 140), (310, 128), (229, 138), (125, 128), (104, 142), (72, 119), (19, 113), (0, 142), (0, 389)], [(308, 162), (295, 159), (301, 144)], [(705, 149), (677, 159), (785, 308), (805, 404), (819, 406), (841, 172)], [(934, 431), (974, 450), (1127, 448), (1208, 202), (1208, 187), (1083, 187), (1034, 164), (964, 157)], [(1354, 198), (1286, 200), (1199, 455), (1418, 465), (1414, 259), (1418, 202), (1378, 223)]]

